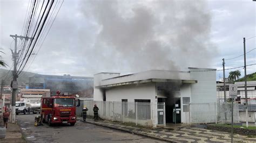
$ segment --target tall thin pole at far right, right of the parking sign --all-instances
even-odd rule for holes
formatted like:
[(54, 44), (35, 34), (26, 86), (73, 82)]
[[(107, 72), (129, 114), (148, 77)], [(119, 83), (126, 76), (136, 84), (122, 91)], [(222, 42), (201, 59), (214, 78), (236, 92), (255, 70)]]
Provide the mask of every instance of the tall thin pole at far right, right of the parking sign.
[(246, 52), (245, 52), (245, 38), (244, 38), (244, 62), (245, 62), (245, 115), (246, 127), (248, 127), (248, 99), (247, 99), (247, 76), (246, 76)]

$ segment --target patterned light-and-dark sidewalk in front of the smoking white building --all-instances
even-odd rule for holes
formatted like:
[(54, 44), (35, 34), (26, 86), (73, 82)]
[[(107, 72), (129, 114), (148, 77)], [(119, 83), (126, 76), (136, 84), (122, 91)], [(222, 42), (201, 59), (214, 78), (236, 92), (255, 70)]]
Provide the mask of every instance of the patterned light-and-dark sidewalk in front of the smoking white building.
[[(83, 121), (82, 117), (78, 120)], [(145, 137), (158, 139), (168, 142), (230, 142), (230, 133), (206, 130), (196, 127), (174, 127), (174, 128), (147, 128), (136, 126), (133, 124), (123, 124), (107, 120), (94, 121), (86, 119), (87, 123), (96, 124), (99, 126), (109, 127), (116, 130), (121, 130), (133, 134), (143, 135)], [(256, 137), (247, 137), (246, 135), (234, 134), (235, 142), (256, 142)]]

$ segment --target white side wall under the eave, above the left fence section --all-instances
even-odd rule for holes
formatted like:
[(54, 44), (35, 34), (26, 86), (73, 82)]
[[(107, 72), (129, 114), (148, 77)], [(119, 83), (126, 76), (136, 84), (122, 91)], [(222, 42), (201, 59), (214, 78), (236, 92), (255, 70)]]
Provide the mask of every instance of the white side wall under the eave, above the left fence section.
[(156, 103), (156, 90), (154, 83), (140, 85), (127, 85), (106, 90), (106, 101), (134, 102), (134, 99), (150, 99), (151, 103)]

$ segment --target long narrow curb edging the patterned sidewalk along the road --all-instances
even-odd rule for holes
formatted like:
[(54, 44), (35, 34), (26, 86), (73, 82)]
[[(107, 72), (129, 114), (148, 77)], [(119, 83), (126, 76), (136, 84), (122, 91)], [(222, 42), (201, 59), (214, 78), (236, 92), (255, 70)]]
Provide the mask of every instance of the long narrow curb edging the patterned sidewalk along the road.
[[(79, 119), (80, 121), (83, 121), (83, 119), (80, 119), (80, 118), (78, 118), (78, 119)], [(140, 136), (147, 137), (147, 138), (151, 138), (151, 139), (157, 139), (157, 140), (167, 141), (167, 142), (174, 142), (174, 141), (171, 141), (171, 140), (168, 140), (168, 139), (159, 138), (159, 137), (154, 137), (154, 136), (148, 135), (148, 134), (143, 134), (143, 133), (138, 133), (138, 132), (133, 132), (133, 131), (125, 130), (125, 129), (123, 129), (123, 128), (118, 128), (118, 127), (112, 127), (112, 126), (107, 126), (107, 125), (98, 124), (98, 123), (95, 123), (95, 121), (86, 121), (86, 123), (94, 124), (94, 125), (98, 125), (98, 126), (102, 126), (102, 127), (107, 127), (107, 128), (111, 128), (111, 129), (114, 129), (114, 130), (124, 131), (124, 132), (128, 132), (128, 133), (140, 135)]]

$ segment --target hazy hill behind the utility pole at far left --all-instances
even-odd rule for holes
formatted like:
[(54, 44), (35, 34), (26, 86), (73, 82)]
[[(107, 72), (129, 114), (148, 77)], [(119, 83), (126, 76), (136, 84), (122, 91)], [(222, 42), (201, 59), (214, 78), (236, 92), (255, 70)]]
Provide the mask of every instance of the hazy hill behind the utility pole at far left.
[[(18, 77), (18, 84), (20, 86), (26, 86), (29, 82), (29, 77), (34, 76), (35, 73), (22, 72)], [(5, 85), (11, 85), (12, 71), (0, 68), (0, 81), (5, 80)]]

